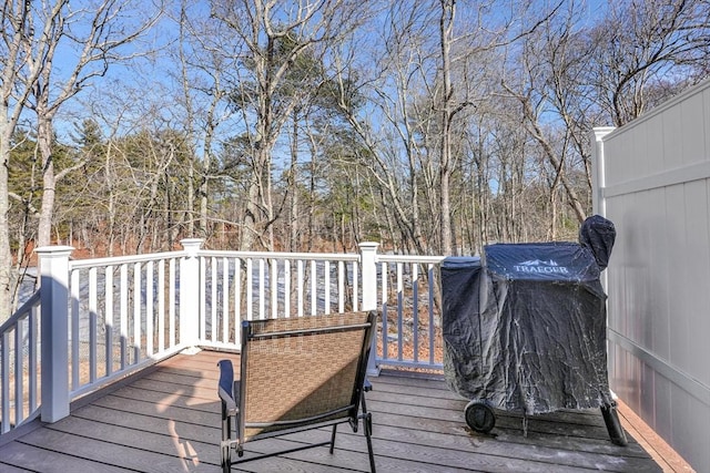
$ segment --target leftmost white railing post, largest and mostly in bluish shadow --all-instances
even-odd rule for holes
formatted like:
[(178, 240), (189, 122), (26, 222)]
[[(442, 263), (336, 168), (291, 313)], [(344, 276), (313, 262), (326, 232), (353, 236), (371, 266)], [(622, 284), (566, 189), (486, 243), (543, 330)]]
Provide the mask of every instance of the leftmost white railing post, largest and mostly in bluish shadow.
[(69, 256), (73, 249), (43, 246), (34, 250), (40, 266), (43, 422), (69, 415)]

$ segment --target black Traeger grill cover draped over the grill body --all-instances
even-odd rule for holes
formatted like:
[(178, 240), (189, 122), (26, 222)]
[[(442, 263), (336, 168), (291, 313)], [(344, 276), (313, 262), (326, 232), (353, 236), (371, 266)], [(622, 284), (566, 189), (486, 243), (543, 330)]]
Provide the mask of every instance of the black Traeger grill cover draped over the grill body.
[(453, 391), (526, 414), (611, 401), (606, 295), (575, 243), (486, 246), (442, 265), (444, 371)]

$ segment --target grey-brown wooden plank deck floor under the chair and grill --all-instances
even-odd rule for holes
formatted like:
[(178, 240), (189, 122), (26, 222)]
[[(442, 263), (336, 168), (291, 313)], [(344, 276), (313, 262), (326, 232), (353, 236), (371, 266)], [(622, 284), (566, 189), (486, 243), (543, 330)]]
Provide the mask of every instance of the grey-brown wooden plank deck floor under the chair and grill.
[[(212, 351), (173, 357), (140, 378), (80, 401), (60, 422), (36, 421), (22, 435), (0, 444), (0, 472), (219, 472), (216, 361), (225, 357), (230, 354)], [(498, 412), (491, 435), (480, 435), (467, 431), (466, 400), (440, 379), (385, 373), (372, 382), (367, 408), (381, 473), (667, 470), (630, 435), (628, 446), (612, 444), (596, 410), (534, 417), (527, 438), (520, 417)], [(247, 451), (328, 434), (315, 431), (254, 442)], [(366, 451), (361, 432), (341, 428), (333, 455), (317, 448), (234, 471), (368, 471)]]

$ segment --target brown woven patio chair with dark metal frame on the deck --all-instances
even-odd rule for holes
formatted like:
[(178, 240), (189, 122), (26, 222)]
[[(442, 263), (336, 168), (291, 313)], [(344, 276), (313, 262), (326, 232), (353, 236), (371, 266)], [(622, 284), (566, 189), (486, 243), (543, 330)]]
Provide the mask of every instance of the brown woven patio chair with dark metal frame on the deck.
[[(356, 432), (359, 419), (375, 472), (364, 395), (375, 319), (371, 311), (242, 322), (241, 379), (234, 380), (230, 360), (217, 363), (224, 473), (233, 464), (320, 445), (333, 453), (337, 424), (348, 422)], [(246, 442), (323, 426), (333, 426), (327, 442), (241, 459)], [(232, 460), (232, 450), (240, 460)]]

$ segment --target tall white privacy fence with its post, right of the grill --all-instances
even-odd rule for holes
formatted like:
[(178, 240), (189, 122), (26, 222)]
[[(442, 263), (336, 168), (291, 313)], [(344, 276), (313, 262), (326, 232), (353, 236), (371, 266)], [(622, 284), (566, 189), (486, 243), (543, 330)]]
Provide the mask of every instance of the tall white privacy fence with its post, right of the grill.
[(710, 81), (595, 140), (612, 389), (710, 472)]

